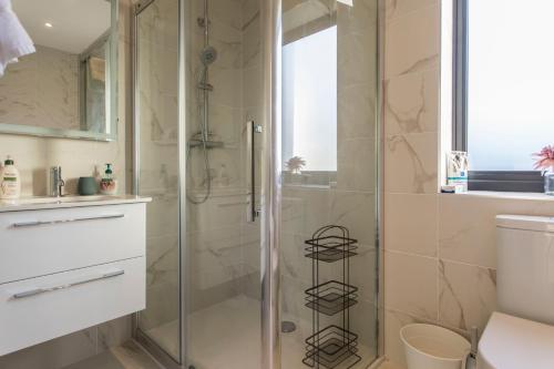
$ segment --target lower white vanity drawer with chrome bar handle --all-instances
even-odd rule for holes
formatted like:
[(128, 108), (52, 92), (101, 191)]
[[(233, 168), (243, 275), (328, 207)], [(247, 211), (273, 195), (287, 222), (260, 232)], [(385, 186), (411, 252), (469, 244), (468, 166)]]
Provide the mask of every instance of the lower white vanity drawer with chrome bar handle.
[(145, 308), (144, 257), (0, 285), (0, 356)]

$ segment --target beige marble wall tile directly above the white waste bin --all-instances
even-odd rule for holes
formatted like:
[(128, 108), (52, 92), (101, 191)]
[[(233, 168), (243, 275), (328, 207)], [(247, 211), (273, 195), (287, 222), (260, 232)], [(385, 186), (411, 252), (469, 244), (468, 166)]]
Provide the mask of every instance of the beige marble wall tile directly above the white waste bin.
[(386, 308), (437, 320), (437, 259), (384, 252)]

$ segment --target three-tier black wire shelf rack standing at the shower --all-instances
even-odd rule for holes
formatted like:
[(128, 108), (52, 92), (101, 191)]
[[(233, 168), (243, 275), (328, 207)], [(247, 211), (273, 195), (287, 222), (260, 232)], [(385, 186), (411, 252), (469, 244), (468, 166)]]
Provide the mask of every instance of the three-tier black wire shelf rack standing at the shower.
[[(358, 287), (350, 285), (350, 258), (357, 255), (358, 240), (350, 238), (346, 227), (329, 225), (316, 230), (305, 244), (308, 245), (305, 256), (311, 258), (312, 283), (305, 293), (306, 306), (312, 311), (312, 334), (306, 338), (302, 362), (311, 368), (352, 368), (361, 361), (358, 335), (350, 331), (350, 307), (358, 303)], [(341, 262), (342, 275), (321, 281), (320, 262)], [(341, 319), (334, 318), (332, 324), (326, 326), (320, 315), (339, 315)]]

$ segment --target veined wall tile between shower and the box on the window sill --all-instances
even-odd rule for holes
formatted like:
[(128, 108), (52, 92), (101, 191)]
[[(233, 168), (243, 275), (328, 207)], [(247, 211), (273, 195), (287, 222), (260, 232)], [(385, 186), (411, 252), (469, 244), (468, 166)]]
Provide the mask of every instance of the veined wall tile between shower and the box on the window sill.
[(437, 193), (437, 136), (435, 132), (428, 132), (386, 137), (386, 192)]

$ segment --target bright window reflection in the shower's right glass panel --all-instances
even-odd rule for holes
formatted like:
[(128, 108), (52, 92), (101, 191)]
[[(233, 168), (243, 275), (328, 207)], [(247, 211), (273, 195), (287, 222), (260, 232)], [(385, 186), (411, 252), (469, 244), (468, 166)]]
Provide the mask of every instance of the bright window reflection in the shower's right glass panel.
[(285, 165), (337, 171), (337, 27), (283, 48), (283, 133)]

